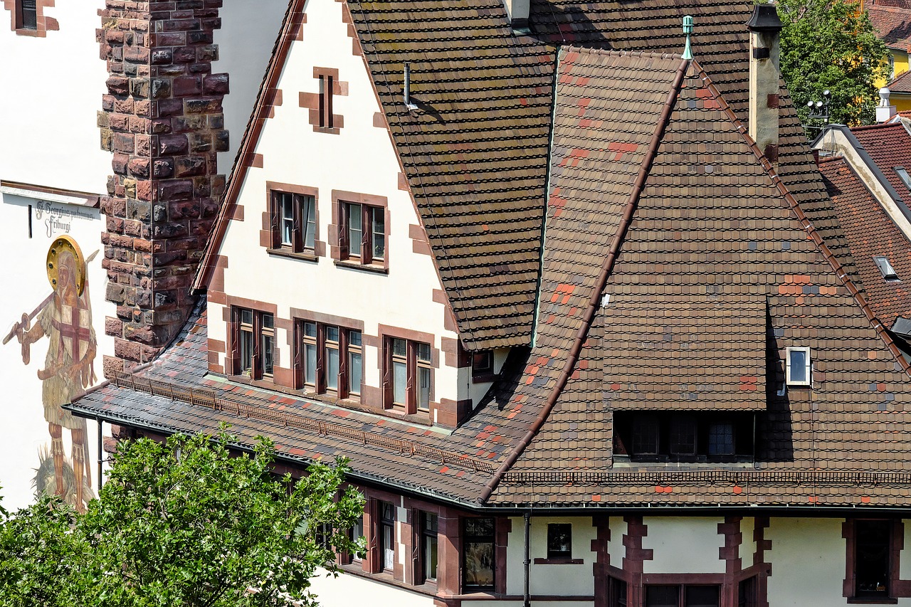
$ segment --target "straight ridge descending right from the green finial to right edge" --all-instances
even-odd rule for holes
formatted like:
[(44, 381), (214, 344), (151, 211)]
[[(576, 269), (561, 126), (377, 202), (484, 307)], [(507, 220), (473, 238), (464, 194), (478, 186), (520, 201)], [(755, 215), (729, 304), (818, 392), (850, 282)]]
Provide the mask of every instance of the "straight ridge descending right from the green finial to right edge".
[(699, 73), (702, 77), (702, 81), (705, 83), (705, 86), (709, 88), (711, 94), (714, 96), (715, 100), (719, 102), (722, 106), (722, 111), (727, 114), (728, 118), (732, 120), (734, 125), (736, 125), (737, 130), (741, 132), (743, 140), (746, 141), (747, 146), (752, 149), (753, 154), (756, 158), (759, 159), (760, 164), (763, 166), (769, 177), (772, 179), (773, 185), (780, 191), (784, 197), (784, 200), (788, 202), (791, 210), (796, 215), (797, 221), (804, 226), (804, 231), (806, 231), (807, 237), (814, 242), (816, 248), (819, 249), (819, 252), (823, 254), (823, 257), (826, 262), (832, 266), (835, 276), (844, 283), (844, 286), (847, 288), (848, 292), (854, 297), (855, 302), (860, 306), (861, 311), (867, 318), (867, 321), (873, 327), (880, 339), (882, 339), (886, 348), (889, 352), (896, 358), (896, 363), (901, 367), (901, 369), (906, 373), (906, 375), (911, 376), (911, 364), (909, 364), (905, 357), (902, 355), (901, 351), (896, 346), (892, 338), (886, 333), (885, 327), (873, 313), (873, 310), (870, 308), (870, 304), (867, 303), (864, 293), (861, 293), (860, 289), (857, 288), (854, 281), (851, 280), (851, 277), (848, 275), (847, 271), (844, 269), (844, 266), (839, 262), (832, 252), (829, 249), (828, 245), (823, 241), (822, 236), (819, 235), (819, 232), (813, 226), (813, 223), (810, 222), (810, 219), (804, 213), (804, 210), (801, 209), (800, 203), (794, 199), (791, 190), (784, 184), (782, 178), (778, 175), (778, 172), (773, 167), (772, 163), (765, 157), (763, 152), (756, 145), (756, 142), (750, 136), (749, 131), (743, 126), (743, 123), (739, 118), (733, 113), (733, 110), (728, 106), (727, 101), (722, 97), (721, 92), (715, 87), (711, 81), (711, 77), (705, 73), (705, 70), (702, 69), (699, 62), (693, 59), (693, 63), (699, 70)]

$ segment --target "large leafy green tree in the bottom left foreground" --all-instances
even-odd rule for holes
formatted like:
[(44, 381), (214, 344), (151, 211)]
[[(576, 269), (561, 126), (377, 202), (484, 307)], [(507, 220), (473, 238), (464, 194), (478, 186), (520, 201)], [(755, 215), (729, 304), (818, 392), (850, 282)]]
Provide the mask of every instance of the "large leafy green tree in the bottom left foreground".
[(337, 574), (335, 550), (363, 550), (346, 532), (363, 496), (340, 490), (343, 460), (295, 482), (272, 473), (268, 441), (240, 457), (230, 441), (222, 432), (121, 443), (86, 514), (44, 499), (7, 517), (0, 604), (315, 604), (317, 568)]

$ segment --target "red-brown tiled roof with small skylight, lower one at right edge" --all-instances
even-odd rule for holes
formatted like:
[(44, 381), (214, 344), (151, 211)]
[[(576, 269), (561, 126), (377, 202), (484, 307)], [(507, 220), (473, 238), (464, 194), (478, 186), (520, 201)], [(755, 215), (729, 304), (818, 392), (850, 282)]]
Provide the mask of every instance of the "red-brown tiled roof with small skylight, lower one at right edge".
[[(911, 318), (911, 242), (844, 158), (823, 159), (819, 169), (876, 317), (886, 326), (898, 316)], [(889, 260), (899, 281), (885, 281), (873, 261), (878, 255)]]

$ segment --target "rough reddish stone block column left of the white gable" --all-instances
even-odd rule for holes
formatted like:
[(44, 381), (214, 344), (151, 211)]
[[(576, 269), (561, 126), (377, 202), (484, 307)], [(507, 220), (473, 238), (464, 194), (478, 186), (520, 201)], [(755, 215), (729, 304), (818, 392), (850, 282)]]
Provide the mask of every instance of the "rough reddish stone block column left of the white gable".
[(219, 209), (227, 151), (221, 102), (228, 75), (212, 74), (222, 0), (107, 0), (97, 30), (107, 61), (98, 112), (113, 175), (107, 216), (107, 300), (117, 318), (106, 373), (158, 355), (187, 318), (189, 286)]

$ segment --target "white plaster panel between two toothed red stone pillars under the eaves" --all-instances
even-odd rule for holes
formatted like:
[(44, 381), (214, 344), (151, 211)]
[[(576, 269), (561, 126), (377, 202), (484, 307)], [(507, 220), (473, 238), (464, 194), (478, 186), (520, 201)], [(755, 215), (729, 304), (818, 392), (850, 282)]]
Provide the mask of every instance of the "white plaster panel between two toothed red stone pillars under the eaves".
[(653, 550), (643, 562), (644, 573), (723, 573), (719, 549), (724, 536), (718, 532), (719, 517), (645, 517), (648, 535), (642, 548)]

